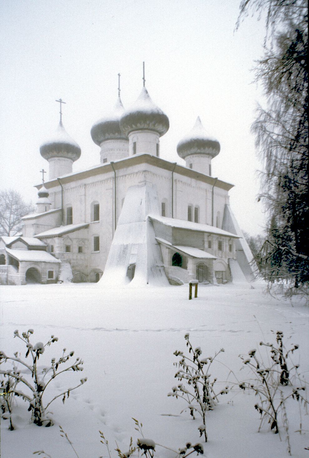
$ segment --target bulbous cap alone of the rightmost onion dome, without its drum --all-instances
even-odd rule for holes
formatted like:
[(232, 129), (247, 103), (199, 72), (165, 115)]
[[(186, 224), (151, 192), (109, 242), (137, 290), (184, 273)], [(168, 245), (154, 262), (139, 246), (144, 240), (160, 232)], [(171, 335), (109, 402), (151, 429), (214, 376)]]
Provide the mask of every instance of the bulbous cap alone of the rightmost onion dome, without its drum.
[(214, 158), (220, 153), (220, 143), (206, 133), (198, 116), (193, 129), (178, 143), (177, 153), (182, 159), (191, 154), (207, 154)]

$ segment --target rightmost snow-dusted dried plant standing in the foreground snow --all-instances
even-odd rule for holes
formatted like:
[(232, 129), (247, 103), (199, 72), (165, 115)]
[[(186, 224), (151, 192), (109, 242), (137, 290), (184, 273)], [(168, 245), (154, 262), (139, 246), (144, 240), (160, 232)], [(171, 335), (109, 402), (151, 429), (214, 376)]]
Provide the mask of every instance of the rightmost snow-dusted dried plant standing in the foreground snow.
[[(285, 403), (288, 398), (297, 400), (301, 405), (308, 405), (309, 402), (304, 397), (305, 386), (301, 383), (298, 365), (294, 365), (289, 358), (289, 355), (298, 349), (298, 345), (293, 345), (291, 349), (286, 350), (282, 339), (283, 333), (277, 331), (277, 346), (260, 342), (260, 346), (270, 349), (272, 360), (270, 364), (265, 364), (262, 357), (257, 356), (256, 349), (251, 350), (248, 355), (239, 355), (244, 365), (248, 366), (253, 374), (252, 378), (241, 382), (239, 387), (244, 391), (253, 391), (255, 396), (259, 398), (259, 402), (255, 404), (255, 409), (261, 417), (258, 431), (267, 422), (270, 429), (280, 436), (279, 421), (281, 419), (287, 434), (288, 452), (291, 454)], [(291, 360), (290, 367), (288, 367), (288, 358)], [(297, 386), (293, 385), (292, 380), (299, 382)]]

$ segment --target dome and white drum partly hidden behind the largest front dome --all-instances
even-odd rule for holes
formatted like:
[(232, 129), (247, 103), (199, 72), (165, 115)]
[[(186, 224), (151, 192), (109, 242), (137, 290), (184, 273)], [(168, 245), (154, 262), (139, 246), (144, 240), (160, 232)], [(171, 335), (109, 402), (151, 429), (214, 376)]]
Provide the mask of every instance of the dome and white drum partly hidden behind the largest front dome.
[(101, 163), (125, 158), (129, 155), (128, 136), (121, 131), (119, 120), (125, 109), (118, 96), (114, 110), (98, 120), (91, 128), (94, 143), (101, 147)]

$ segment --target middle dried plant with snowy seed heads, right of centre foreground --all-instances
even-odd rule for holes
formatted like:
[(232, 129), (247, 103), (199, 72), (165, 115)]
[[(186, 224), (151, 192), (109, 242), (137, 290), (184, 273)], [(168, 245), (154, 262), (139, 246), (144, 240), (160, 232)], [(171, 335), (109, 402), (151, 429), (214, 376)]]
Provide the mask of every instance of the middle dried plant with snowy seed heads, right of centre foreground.
[(188, 404), (181, 413), (189, 410), (194, 420), (196, 413), (201, 416), (203, 423), (198, 429), (200, 437), (204, 435), (205, 442), (207, 442), (206, 412), (212, 410), (219, 402), (218, 396), (220, 394), (228, 393), (228, 387), (225, 387), (217, 394), (215, 393), (214, 384), (217, 378), (211, 380), (209, 372), (211, 363), (217, 358), (218, 354), (224, 352), (224, 349), (220, 349), (213, 357), (201, 358), (201, 348), (194, 349), (192, 347), (189, 334), (185, 334), (184, 338), (187, 341), (186, 346), (189, 348), (189, 356), (182, 351), (176, 350), (174, 355), (180, 356), (181, 359), (178, 363), (173, 364), (179, 368), (175, 377), (179, 379), (179, 382), (185, 381), (186, 384), (179, 383), (179, 385), (172, 388), (172, 392), (168, 393), (168, 396), (174, 396), (176, 399), (180, 397)]

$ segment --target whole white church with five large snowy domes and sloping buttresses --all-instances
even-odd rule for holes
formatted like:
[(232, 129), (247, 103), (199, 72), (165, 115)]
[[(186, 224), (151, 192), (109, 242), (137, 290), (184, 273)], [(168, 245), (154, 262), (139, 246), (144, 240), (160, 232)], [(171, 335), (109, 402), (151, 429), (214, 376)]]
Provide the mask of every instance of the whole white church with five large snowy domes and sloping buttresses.
[(23, 218), (22, 234), (0, 239), (0, 282), (253, 280), (252, 254), (229, 206), (233, 185), (211, 176), (219, 142), (197, 118), (177, 145), (183, 164), (171, 163), (160, 151), (168, 128), (144, 82), (130, 109), (118, 95), (92, 126), (100, 164), (73, 172), (81, 148), (60, 115), (40, 147), (49, 179), (37, 186), (36, 213)]

